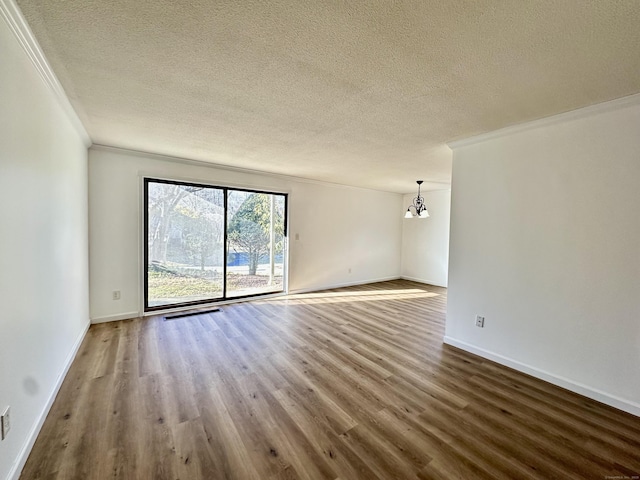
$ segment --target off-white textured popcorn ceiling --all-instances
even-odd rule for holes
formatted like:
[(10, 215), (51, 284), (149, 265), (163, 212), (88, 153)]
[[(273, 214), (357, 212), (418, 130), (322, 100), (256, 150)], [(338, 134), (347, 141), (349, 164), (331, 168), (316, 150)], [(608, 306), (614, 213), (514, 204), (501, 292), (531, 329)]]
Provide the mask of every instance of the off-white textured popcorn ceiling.
[(640, 91), (639, 0), (17, 3), (94, 143), (401, 193)]

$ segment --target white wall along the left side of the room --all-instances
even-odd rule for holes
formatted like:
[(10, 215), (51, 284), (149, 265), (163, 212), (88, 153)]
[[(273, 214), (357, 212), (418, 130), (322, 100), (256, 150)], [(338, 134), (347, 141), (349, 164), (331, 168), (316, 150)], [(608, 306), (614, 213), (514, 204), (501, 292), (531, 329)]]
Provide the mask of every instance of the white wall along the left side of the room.
[(17, 478), (89, 324), (87, 147), (0, 20), (0, 478)]

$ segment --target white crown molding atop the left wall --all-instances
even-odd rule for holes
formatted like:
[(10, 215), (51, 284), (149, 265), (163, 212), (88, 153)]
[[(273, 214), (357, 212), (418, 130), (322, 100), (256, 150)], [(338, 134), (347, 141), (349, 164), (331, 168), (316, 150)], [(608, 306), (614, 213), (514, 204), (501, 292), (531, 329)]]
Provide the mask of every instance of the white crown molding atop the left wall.
[(62, 88), (58, 77), (56, 77), (56, 74), (51, 69), (51, 65), (49, 65), (44, 52), (40, 48), (40, 44), (36, 40), (31, 28), (22, 15), (20, 7), (18, 7), (14, 0), (0, 0), (0, 16), (2, 16), (4, 21), (7, 23), (9, 29), (13, 33), (13, 36), (27, 54), (29, 60), (31, 60), (31, 63), (40, 74), (45, 85), (62, 107), (62, 110), (65, 112), (69, 121), (80, 135), (85, 146), (89, 148), (92, 144), (91, 137), (87, 133), (87, 130), (80, 121), (78, 114), (71, 105), (71, 102), (69, 101), (64, 88)]

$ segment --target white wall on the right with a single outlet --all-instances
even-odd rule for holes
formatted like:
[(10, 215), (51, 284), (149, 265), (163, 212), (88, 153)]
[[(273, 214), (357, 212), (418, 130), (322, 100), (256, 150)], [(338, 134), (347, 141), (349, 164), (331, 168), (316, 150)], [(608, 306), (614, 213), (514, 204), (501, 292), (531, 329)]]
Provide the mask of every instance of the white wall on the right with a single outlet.
[(453, 145), (446, 341), (640, 415), (640, 97), (476, 140)]

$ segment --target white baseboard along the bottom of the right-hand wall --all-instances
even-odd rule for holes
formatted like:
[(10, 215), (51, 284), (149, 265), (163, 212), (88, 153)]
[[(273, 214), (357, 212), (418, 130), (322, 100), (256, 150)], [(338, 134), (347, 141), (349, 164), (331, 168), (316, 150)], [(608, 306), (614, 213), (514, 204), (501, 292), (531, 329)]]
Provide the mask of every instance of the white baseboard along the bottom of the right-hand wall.
[(549, 382), (553, 385), (557, 385), (558, 387), (565, 388), (584, 397), (591, 398), (592, 400), (596, 400), (598, 402), (640, 417), (640, 404), (632, 402), (631, 400), (616, 397), (615, 395), (611, 395), (607, 392), (589, 387), (588, 385), (584, 385), (582, 383), (574, 382), (573, 380), (570, 380), (568, 378), (554, 375), (553, 373), (540, 370), (539, 368), (527, 365), (512, 358), (504, 357), (497, 353), (490, 352), (489, 350), (470, 345), (461, 340), (456, 340), (455, 338), (445, 336), (444, 343), (473, 353), (480, 357), (487, 358), (501, 365), (511, 367), (519, 372), (526, 373), (528, 375), (531, 375), (532, 377), (539, 378), (540, 380), (544, 380), (545, 382)]

